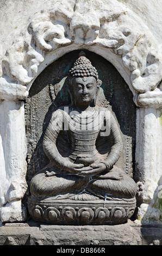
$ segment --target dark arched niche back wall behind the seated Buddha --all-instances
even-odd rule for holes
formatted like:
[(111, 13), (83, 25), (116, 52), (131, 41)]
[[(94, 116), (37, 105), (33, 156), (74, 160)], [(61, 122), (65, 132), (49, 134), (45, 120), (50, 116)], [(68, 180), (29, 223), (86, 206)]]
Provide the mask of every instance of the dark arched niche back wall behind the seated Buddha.
[[(66, 53), (49, 65), (36, 78), (29, 91), (25, 103), (26, 135), (27, 135), (27, 182), (32, 176), (43, 168), (48, 159), (43, 152), (42, 139), (52, 112), (59, 106), (70, 103), (68, 99), (66, 77), (73, 63), (78, 58), (80, 50)], [(98, 71), (102, 80), (101, 97), (104, 106), (104, 96), (112, 107), (119, 122), (122, 138), (123, 153), (117, 162), (131, 177), (134, 176), (135, 163), (135, 122), (136, 106), (133, 102), (133, 94), (122, 76), (108, 60), (98, 54), (84, 50), (86, 57), (90, 59)], [(66, 136), (63, 138), (65, 148), (60, 149), (61, 154), (68, 150)], [(105, 144), (104, 139), (101, 143)]]

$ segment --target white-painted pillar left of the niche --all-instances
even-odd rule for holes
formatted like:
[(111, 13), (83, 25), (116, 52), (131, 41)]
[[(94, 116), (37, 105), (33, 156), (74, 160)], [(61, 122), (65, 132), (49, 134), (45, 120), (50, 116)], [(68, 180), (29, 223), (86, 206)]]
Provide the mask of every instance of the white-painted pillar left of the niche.
[(1, 221), (26, 220), (22, 198), (26, 192), (26, 132), (24, 102), (1, 100)]

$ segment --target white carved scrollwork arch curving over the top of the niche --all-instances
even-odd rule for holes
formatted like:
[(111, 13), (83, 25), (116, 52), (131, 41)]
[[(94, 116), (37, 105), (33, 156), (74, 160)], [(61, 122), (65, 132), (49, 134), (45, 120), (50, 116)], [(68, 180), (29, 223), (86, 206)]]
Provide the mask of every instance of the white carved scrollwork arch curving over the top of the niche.
[[(53, 4), (35, 14), (28, 32), (23, 32), (3, 57), (2, 91), (8, 84), (16, 84), (26, 97), (22, 86), (30, 87), (41, 71), (38, 67), (48, 65), (54, 60), (55, 51), (70, 45), (91, 47), (92, 51), (95, 47), (107, 48), (115, 58), (120, 57), (120, 65), (129, 71), (130, 86), (135, 92), (146, 93), (158, 86), (162, 77), (161, 51), (142, 20), (117, 1), (101, 2), (99, 9), (96, 1), (89, 10), (82, 2), (77, 1), (74, 6), (68, 3), (66, 9)], [(49, 53), (52, 59), (48, 58)], [(10, 92), (17, 95), (11, 88)]]

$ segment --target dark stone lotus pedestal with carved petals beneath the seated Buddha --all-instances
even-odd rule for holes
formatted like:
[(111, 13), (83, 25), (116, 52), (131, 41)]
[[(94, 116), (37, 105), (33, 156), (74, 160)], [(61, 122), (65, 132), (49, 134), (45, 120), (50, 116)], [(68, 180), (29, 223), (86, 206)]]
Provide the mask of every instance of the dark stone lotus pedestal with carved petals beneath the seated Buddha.
[(134, 214), (136, 200), (38, 200), (28, 199), (28, 210), (33, 220), (59, 224), (120, 224)]

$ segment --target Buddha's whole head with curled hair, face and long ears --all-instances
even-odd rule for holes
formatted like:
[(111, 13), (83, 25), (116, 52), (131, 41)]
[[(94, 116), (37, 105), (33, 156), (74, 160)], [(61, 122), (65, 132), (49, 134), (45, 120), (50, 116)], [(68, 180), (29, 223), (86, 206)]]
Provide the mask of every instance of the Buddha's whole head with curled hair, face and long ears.
[(98, 79), (96, 68), (85, 57), (84, 52), (80, 52), (79, 55), (68, 73), (68, 92), (72, 105), (86, 108), (95, 106), (102, 81)]

